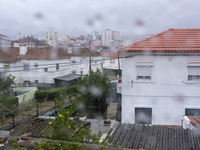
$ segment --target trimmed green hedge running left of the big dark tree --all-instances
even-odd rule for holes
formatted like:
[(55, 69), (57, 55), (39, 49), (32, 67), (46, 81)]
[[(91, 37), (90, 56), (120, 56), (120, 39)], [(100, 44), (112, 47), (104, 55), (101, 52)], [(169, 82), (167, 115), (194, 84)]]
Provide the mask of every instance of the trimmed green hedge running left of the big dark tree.
[(75, 92), (77, 92), (77, 87), (75, 85), (70, 87), (54, 88), (48, 91), (37, 90), (35, 98), (38, 102), (44, 102), (45, 100), (54, 100), (55, 98), (59, 98), (61, 95), (66, 96), (67, 94)]

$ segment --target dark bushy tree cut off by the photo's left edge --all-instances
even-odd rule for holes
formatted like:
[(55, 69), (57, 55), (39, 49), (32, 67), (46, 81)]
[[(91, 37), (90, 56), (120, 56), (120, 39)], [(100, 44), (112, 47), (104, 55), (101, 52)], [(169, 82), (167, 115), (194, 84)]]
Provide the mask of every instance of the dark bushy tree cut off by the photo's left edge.
[(8, 95), (11, 84), (14, 84), (13, 76), (5, 76), (4, 73), (0, 72), (0, 96)]

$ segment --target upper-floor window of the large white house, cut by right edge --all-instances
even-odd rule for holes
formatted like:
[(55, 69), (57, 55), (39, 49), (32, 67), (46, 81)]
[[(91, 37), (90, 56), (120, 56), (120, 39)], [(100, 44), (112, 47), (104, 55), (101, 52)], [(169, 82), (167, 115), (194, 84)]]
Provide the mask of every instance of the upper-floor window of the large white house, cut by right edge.
[(200, 66), (188, 66), (188, 81), (200, 80)]

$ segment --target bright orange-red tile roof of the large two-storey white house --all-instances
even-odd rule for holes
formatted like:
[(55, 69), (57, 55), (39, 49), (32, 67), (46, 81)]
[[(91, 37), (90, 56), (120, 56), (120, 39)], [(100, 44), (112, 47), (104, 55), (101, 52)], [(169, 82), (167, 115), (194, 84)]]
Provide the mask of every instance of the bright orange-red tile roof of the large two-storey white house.
[(199, 53), (200, 29), (168, 29), (144, 40), (122, 47), (120, 52)]

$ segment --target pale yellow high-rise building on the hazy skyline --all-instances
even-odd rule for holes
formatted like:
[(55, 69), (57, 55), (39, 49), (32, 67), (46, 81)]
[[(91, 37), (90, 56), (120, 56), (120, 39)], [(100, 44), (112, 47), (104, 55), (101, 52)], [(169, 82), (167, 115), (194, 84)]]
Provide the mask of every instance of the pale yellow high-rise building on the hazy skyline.
[(46, 43), (50, 45), (56, 44), (58, 41), (58, 32), (56, 31), (47, 31), (46, 32)]

